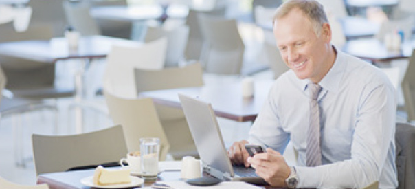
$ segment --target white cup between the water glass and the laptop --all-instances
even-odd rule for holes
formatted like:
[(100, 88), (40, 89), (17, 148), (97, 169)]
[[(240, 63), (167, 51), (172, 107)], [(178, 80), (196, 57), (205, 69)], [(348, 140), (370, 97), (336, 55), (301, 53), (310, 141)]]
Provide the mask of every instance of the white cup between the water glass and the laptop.
[(200, 160), (186, 156), (181, 159), (181, 173), (182, 179), (196, 179), (202, 177)]

